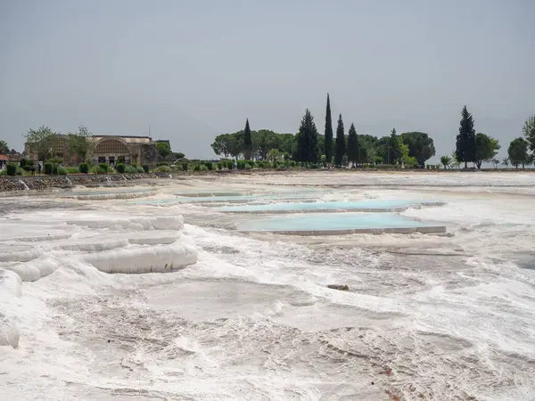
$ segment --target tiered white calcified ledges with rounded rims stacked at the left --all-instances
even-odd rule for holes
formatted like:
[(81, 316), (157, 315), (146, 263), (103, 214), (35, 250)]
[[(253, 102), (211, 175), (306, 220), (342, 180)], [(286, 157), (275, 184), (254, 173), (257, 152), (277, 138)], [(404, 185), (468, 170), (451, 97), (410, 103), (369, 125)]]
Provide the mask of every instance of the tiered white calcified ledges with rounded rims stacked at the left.
[[(62, 235), (9, 237), (0, 248), (0, 347), (19, 347), (17, 327), (22, 282), (36, 282), (58, 269), (77, 265), (84, 274), (172, 272), (197, 262), (193, 243), (178, 241), (182, 216), (76, 218), (29, 225)], [(48, 223), (48, 225), (45, 225)], [(6, 224), (5, 229), (12, 229)], [(60, 231), (62, 230), (62, 231)], [(95, 230), (97, 232), (95, 233)], [(28, 230), (27, 230), (28, 231)], [(31, 231), (31, 230), (29, 230)], [(65, 232), (63, 232), (65, 231)], [(54, 233), (49, 231), (49, 233)], [(5, 236), (4, 236), (5, 238)], [(27, 241), (32, 241), (28, 244)], [(96, 269), (96, 270), (95, 270)], [(62, 272), (64, 273), (64, 272)], [(53, 275), (50, 280), (54, 280)]]

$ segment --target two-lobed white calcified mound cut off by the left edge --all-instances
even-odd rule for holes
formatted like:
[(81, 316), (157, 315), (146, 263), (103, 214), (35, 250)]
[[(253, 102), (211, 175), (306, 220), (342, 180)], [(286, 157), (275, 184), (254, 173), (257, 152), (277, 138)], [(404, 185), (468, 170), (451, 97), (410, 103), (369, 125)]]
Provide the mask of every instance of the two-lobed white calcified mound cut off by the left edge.
[(21, 297), (21, 277), (0, 268), (0, 347), (19, 347), (19, 329), (11, 318), (4, 315), (9, 301)]

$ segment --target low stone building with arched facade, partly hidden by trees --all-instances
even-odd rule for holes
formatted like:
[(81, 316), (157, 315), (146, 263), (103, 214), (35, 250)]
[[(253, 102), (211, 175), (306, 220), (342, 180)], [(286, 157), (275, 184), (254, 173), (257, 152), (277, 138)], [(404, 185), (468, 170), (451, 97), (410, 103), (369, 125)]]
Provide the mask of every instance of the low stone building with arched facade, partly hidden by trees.
[[(136, 163), (140, 167), (144, 164), (151, 168), (156, 167), (156, 142), (152, 141), (150, 136), (93, 135), (91, 140), (95, 143), (92, 154), (94, 164), (116, 164), (119, 160), (123, 160), (125, 164)], [(69, 153), (69, 135), (57, 135), (51, 151), (69, 164), (78, 164), (82, 161), (78, 155)], [(37, 161), (37, 154), (30, 151), (28, 143), (25, 143), (24, 154)]]

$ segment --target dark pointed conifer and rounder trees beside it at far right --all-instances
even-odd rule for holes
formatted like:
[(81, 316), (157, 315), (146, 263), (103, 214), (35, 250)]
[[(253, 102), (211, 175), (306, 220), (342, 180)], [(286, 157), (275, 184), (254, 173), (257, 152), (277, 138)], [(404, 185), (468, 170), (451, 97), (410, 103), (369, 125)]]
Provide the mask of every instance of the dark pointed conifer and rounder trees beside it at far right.
[[(473, 115), (468, 112), (466, 106), (461, 111), (461, 121), (456, 140), (456, 149), (451, 156), (440, 157), (440, 163), (444, 168), (459, 166), (460, 163), (473, 163), (476, 168), (481, 168), (481, 163), (492, 162), (498, 167), (496, 159), (500, 144), (497, 139), (482, 133), (475, 133)], [(512, 164), (515, 168), (529, 166), (535, 160), (535, 115), (526, 119), (522, 128), (523, 136), (515, 138), (507, 148), (507, 155), (502, 164), (506, 167)]]

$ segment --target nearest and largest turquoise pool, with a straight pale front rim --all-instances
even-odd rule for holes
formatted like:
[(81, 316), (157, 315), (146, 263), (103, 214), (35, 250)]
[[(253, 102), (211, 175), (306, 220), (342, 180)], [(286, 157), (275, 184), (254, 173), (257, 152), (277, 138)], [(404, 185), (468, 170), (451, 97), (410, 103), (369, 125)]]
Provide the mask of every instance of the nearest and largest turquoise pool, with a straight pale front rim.
[(432, 225), (394, 213), (308, 213), (248, 220), (239, 223), (237, 229), (253, 232), (321, 232), (416, 227)]

